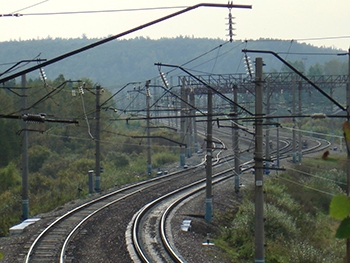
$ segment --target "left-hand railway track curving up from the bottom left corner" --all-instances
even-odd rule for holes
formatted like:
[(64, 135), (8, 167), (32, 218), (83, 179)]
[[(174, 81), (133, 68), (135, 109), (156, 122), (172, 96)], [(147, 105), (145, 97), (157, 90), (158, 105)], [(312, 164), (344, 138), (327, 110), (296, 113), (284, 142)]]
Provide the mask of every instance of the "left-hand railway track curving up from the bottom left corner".
[[(165, 185), (177, 181), (191, 171), (182, 171), (182, 174), (172, 174), (168, 177), (156, 178), (146, 182), (124, 187), (87, 202), (48, 225), (34, 240), (26, 253), (25, 263), (29, 262), (65, 262), (65, 252), (68, 243), (82, 225), (92, 216), (108, 207), (131, 198), (146, 189)], [(187, 181), (186, 181), (187, 182)]]

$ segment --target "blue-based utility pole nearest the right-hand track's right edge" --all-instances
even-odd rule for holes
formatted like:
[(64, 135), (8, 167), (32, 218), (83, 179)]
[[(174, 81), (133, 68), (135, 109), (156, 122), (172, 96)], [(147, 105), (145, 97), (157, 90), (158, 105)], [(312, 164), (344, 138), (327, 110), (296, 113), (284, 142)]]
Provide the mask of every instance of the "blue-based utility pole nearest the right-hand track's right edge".
[(205, 220), (212, 221), (213, 217), (213, 194), (212, 194), (212, 149), (213, 148), (213, 92), (208, 89), (208, 116), (207, 116), (207, 166), (206, 166), (206, 198), (205, 198)]

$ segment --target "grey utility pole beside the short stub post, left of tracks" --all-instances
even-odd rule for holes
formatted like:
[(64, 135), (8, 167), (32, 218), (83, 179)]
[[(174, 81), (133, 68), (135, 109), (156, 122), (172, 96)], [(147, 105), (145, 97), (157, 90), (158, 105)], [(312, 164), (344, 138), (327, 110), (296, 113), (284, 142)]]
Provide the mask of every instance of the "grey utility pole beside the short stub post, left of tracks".
[(100, 96), (101, 96), (101, 86), (96, 86), (96, 132), (95, 132), (95, 146), (96, 146), (96, 156), (95, 156), (95, 191), (98, 193), (101, 191), (100, 182), (101, 182), (101, 152), (100, 152), (100, 115), (101, 115), (101, 106), (100, 106)]

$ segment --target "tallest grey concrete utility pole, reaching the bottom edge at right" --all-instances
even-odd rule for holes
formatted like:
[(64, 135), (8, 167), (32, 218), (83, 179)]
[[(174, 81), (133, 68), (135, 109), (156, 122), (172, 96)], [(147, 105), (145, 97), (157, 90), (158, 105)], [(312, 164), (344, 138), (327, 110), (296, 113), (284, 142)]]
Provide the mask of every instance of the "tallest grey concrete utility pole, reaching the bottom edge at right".
[(255, 59), (255, 259), (265, 263), (264, 192), (263, 192), (263, 81), (262, 58)]

